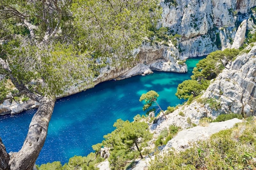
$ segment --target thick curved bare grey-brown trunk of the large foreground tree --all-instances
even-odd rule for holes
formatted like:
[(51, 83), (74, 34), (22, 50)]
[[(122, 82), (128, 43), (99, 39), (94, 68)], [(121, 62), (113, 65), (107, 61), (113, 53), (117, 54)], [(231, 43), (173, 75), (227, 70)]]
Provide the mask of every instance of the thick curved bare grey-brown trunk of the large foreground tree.
[(13, 153), (9, 165), (11, 170), (32, 170), (44, 145), (55, 100), (42, 96), (40, 105), (33, 116), (27, 137), (19, 152)]

